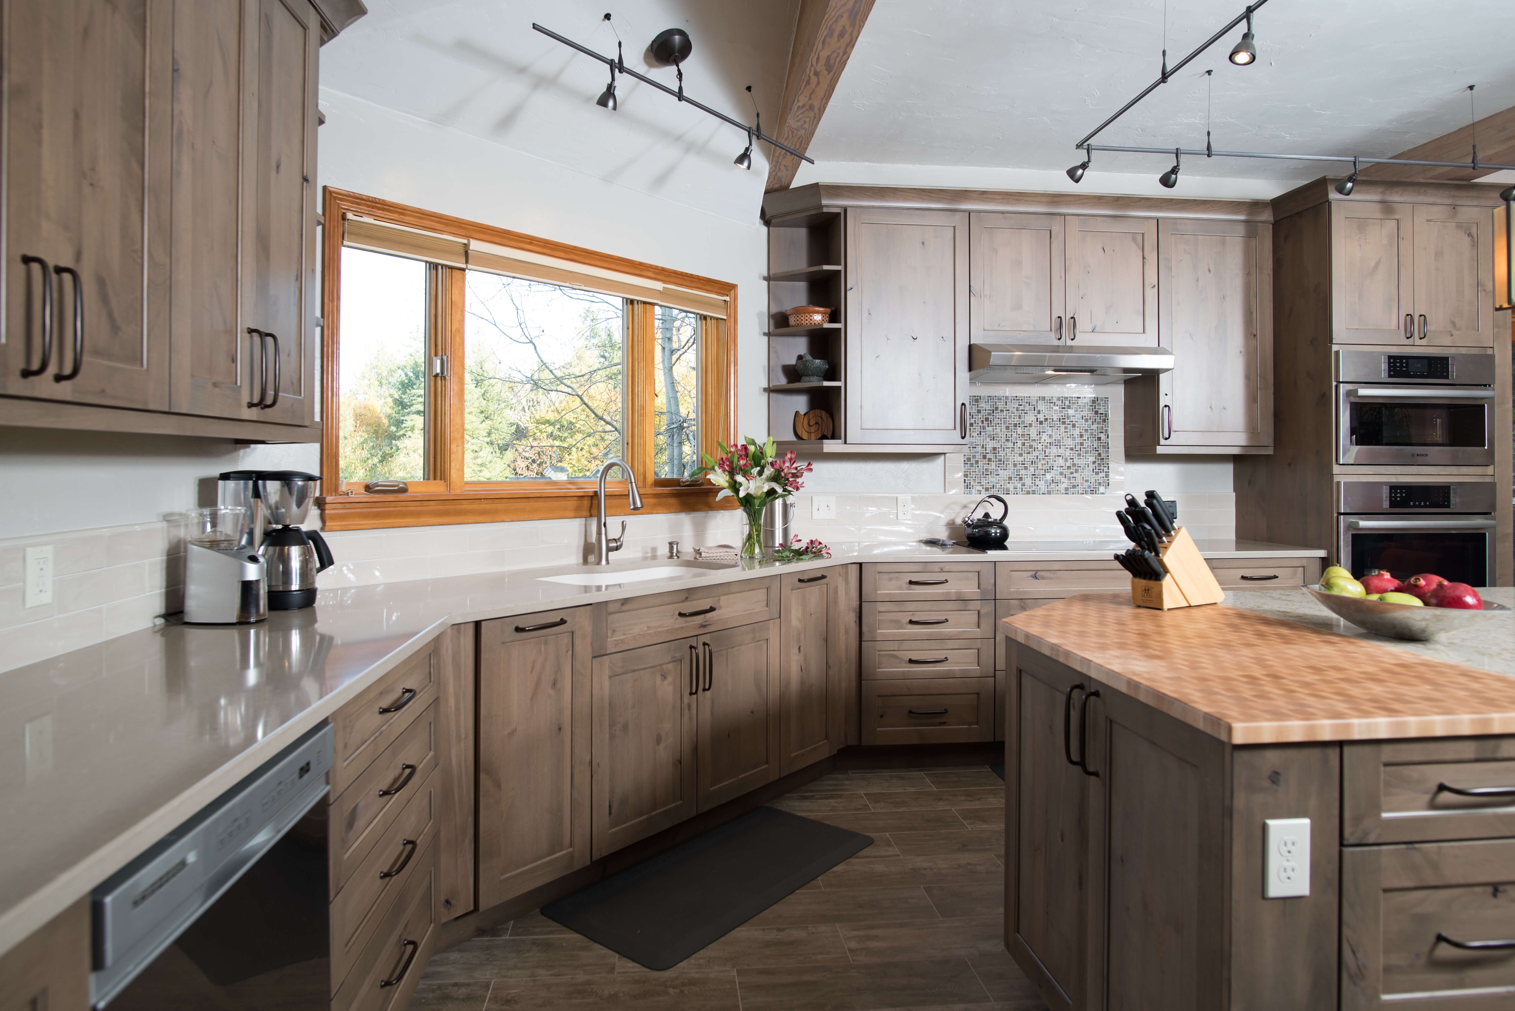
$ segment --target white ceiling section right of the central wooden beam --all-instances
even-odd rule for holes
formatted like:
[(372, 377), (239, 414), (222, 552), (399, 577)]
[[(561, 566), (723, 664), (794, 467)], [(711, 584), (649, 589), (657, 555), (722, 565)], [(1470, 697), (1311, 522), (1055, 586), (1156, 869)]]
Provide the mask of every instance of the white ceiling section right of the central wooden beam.
[[(1176, 64), (1241, 0), (1168, 0)], [(1164, 0), (877, 0), (809, 153), (820, 162), (1062, 170), (1074, 144), (1159, 73)], [(1270, 0), (1259, 59), (1233, 30), (1094, 142), (1204, 147), (1204, 71), (1223, 150), (1395, 154), (1515, 106), (1510, 0)], [(1095, 171), (1171, 157), (1097, 154)], [(1320, 163), (1186, 159), (1191, 176), (1314, 179)], [(1332, 170), (1339, 171), (1339, 170)], [(1182, 189), (1182, 183), (1180, 183)]]

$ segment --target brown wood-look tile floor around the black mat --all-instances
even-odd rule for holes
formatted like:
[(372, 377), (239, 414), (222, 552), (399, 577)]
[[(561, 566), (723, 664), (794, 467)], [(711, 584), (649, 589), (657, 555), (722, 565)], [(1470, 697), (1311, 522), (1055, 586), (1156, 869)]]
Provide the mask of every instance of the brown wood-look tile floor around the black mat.
[(773, 807), (874, 837), (668, 972), (533, 913), (432, 960), (411, 1011), (1045, 1011), (1004, 952), (1004, 784), (838, 772)]

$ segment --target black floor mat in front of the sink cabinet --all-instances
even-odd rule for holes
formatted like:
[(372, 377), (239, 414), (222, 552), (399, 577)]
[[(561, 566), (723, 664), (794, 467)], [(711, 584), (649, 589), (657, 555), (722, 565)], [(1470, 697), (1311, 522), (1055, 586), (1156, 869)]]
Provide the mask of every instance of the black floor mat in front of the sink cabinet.
[(673, 969), (871, 843), (761, 807), (550, 902), (542, 916), (639, 966)]

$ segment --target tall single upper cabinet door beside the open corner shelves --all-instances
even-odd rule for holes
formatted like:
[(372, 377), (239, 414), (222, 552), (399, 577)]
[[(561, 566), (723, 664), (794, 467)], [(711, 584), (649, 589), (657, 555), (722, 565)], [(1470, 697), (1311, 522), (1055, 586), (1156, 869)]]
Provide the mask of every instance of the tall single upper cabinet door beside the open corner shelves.
[(847, 442), (968, 439), (968, 215), (847, 212)]

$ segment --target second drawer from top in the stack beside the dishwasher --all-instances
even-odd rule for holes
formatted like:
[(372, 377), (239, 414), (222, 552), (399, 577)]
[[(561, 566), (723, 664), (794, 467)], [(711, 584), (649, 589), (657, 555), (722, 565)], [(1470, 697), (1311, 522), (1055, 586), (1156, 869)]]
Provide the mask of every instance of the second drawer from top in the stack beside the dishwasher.
[(436, 705), (427, 707), (358, 782), (332, 802), (333, 897), (436, 767)]

